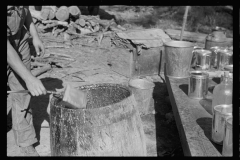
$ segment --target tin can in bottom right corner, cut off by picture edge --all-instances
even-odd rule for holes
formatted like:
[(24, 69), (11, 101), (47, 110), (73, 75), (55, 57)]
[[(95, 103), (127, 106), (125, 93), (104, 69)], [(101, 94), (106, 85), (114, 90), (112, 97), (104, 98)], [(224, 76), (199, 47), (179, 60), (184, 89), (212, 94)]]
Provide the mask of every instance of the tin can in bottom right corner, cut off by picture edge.
[(232, 150), (232, 116), (226, 118), (225, 136), (223, 139), (223, 156), (233, 156)]

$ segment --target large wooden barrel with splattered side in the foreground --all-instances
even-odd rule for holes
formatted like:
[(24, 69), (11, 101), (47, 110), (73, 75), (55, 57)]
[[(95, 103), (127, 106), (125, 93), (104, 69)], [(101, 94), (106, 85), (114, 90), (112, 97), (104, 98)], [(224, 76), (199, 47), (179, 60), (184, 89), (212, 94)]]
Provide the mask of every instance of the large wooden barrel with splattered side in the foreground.
[(67, 109), (61, 95), (50, 101), (52, 156), (146, 156), (137, 104), (119, 84), (80, 86), (86, 109)]

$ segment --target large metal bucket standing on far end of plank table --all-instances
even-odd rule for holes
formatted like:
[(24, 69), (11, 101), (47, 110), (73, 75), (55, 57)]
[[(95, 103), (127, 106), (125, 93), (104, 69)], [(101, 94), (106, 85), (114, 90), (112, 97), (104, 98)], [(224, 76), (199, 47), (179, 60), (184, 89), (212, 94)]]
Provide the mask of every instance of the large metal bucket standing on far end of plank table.
[(170, 41), (165, 43), (165, 63), (168, 77), (189, 77), (193, 47), (193, 43), (185, 41)]

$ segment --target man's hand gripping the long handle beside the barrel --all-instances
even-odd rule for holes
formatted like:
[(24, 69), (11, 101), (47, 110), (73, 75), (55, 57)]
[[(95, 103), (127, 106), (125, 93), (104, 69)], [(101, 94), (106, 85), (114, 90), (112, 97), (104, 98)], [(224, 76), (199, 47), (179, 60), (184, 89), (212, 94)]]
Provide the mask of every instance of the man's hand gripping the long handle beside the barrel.
[(27, 89), (33, 96), (39, 96), (42, 94), (47, 94), (45, 87), (42, 82), (36, 77), (32, 76), (25, 81)]

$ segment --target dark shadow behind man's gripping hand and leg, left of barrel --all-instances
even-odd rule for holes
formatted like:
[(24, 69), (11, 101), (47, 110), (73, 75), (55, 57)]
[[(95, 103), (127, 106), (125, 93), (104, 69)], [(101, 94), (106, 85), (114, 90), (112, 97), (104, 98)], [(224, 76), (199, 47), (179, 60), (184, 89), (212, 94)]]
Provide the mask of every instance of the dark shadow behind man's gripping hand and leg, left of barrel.
[[(41, 79), (44, 87), (46, 90), (56, 91), (56, 89), (63, 88), (62, 80), (57, 78), (43, 78)], [(32, 97), (29, 106), (32, 109), (33, 114), (33, 126), (36, 132), (36, 138), (40, 141), (40, 132), (41, 132), (41, 125), (44, 120), (48, 123), (49, 121), (49, 114), (47, 113), (47, 107), (49, 103), (49, 94), (39, 96), (39, 97)], [(34, 144), (35, 147), (39, 145), (39, 142)]]

